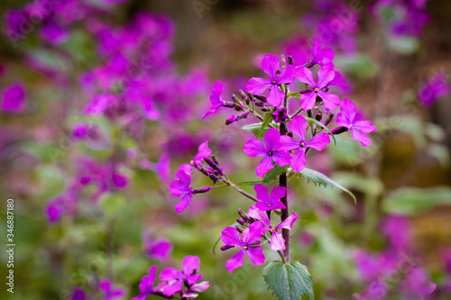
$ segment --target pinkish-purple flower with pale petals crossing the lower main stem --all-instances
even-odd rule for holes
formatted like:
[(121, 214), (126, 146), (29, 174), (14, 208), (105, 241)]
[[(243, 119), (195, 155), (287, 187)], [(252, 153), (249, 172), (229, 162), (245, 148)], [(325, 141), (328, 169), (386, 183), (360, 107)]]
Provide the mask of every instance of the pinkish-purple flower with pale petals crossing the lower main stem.
[(271, 232), (271, 250), (273, 251), (285, 250), (285, 239), (283, 239), (281, 232), (277, 231), (280, 229), (288, 229), (290, 231), (293, 227), (293, 223), (299, 218), (298, 214), (291, 213), (288, 218), (283, 220), (276, 227), (273, 227), (268, 214), (265, 211), (258, 209), (256, 205), (249, 208), (247, 215), (266, 226), (266, 228), (262, 229), (262, 233)]

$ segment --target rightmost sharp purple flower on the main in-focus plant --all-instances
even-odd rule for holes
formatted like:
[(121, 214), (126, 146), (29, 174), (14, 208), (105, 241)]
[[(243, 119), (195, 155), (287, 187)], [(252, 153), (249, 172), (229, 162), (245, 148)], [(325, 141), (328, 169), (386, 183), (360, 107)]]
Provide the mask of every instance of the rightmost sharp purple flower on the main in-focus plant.
[(366, 133), (375, 132), (376, 126), (370, 121), (362, 121), (361, 116), (355, 113), (355, 105), (352, 101), (343, 99), (340, 113), (336, 115), (336, 123), (353, 132), (353, 139), (360, 141), (362, 146), (371, 145), (371, 140)]

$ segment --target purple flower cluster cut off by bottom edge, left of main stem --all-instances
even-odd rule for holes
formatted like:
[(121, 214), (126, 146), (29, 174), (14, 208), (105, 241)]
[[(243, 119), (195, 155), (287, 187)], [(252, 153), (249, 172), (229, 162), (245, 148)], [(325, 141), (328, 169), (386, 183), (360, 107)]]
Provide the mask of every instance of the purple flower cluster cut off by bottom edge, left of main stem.
[(161, 295), (162, 297), (172, 297), (179, 294), (181, 298), (197, 297), (198, 293), (207, 290), (208, 281), (198, 282), (202, 279), (199, 273), (200, 260), (197, 256), (187, 256), (181, 263), (182, 270), (175, 268), (164, 268), (159, 276), (161, 284), (153, 286), (156, 279), (157, 267), (149, 269), (149, 275), (141, 279), (139, 289), (141, 294), (133, 300), (143, 300), (148, 295)]

